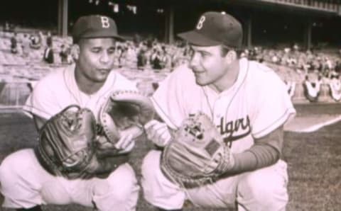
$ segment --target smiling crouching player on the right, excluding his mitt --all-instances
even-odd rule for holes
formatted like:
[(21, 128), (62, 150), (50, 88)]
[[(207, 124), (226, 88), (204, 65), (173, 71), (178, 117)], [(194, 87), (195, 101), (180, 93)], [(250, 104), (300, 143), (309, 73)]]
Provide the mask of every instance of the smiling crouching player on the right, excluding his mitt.
[(234, 165), (216, 182), (184, 188), (164, 175), (161, 151), (152, 150), (141, 168), (144, 198), (159, 210), (181, 210), (185, 200), (200, 207), (285, 210), (283, 124), (296, 113), (285, 84), (263, 64), (239, 59), (242, 25), (227, 13), (203, 13), (194, 30), (179, 36), (191, 45), (190, 64), (175, 69), (153, 94), (162, 121), (145, 125), (148, 139), (165, 147), (171, 130), (203, 112), (230, 147)]

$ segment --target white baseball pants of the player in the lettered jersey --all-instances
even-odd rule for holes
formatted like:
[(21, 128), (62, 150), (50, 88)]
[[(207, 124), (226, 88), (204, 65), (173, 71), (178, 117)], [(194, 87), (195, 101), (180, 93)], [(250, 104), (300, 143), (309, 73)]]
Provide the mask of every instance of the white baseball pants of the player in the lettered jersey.
[(156, 207), (176, 210), (190, 200), (197, 207), (241, 210), (285, 210), (288, 203), (287, 166), (279, 160), (273, 166), (220, 179), (210, 185), (184, 189), (169, 181), (160, 169), (161, 152), (152, 150), (144, 158), (141, 185), (144, 198)]

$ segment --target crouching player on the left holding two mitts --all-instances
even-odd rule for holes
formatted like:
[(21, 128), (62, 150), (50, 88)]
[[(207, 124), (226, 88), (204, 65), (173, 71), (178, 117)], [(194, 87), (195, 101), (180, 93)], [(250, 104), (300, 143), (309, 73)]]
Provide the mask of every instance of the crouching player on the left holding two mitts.
[(24, 108), (39, 138), (0, 166), (4, 207), (76, 203), (97, 210), (136, 210), (139, 185), (127, 163), (144, 123), (149, 99), (112, 70), (122, 40), (107, 16), (83, 16), (72, 31), (75, 65), (36, 84)]

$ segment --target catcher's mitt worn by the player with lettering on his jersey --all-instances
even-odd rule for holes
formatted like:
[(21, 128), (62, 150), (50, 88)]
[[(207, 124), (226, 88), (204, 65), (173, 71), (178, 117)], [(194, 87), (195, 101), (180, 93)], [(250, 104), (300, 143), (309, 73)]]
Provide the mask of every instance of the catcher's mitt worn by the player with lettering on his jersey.
[(207, 115), (185, 119), (161, 157), (161, 170), (184, 188), (212, 183), (233, 165), (229, 147)]

